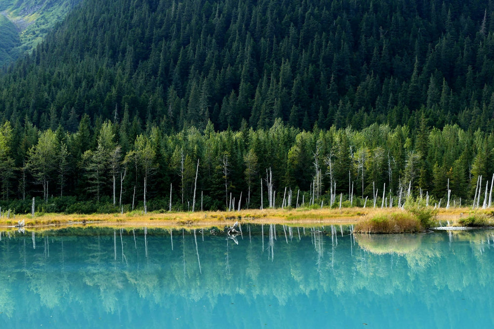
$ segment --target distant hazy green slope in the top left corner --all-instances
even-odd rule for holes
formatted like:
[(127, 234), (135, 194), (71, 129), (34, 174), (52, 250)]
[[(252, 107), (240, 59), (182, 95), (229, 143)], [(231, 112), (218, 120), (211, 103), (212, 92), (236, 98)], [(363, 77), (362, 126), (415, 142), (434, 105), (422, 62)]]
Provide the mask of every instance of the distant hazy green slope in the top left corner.
[(80, 0), (0, 0), (0, 68), (33, 50)]

